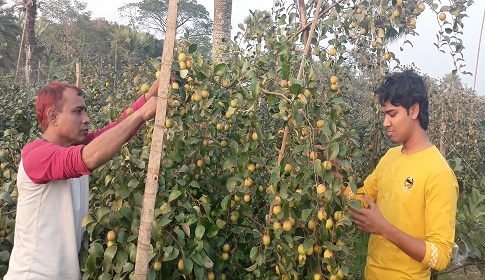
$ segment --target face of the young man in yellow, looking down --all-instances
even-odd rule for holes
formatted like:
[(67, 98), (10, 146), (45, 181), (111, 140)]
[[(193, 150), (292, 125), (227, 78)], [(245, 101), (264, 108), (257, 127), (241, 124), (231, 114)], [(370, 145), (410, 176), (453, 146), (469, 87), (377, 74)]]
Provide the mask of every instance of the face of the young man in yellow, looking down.
[(394, 106), (387, 101), (381, 110), (384, 113), (384, 122), (382, 123), (387, 130), (387, 136), (393, 143), (403, 144), (411, 136), (417, 104), (411, 106), (409, 114), (403, 106)]

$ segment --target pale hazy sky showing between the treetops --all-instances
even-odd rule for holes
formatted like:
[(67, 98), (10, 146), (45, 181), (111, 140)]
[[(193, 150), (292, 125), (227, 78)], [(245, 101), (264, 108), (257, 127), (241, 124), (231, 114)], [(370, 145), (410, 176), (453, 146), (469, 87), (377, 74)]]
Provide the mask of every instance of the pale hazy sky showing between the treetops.
[[(121, 7), (125, 3), (137, 2), (136, 0), (83, 1), (88, 3), (87, 9), (93, 12), (93, 17), (104, 17), (111, 21), (119, 21), (118, 7)], [(206, 6), (212, 16), (214, 0), (197, 0), (197, 2)], [(237, 30), (237, 25), (249, 15), (250, 9), (270, 10), (273, 5), (273, 0), (234, 0), (232, 5), (232, 26), (233, 30)], [(401, 40), (401, 42), (397, 42), (391, 46), (391, 51), (396, 54), (401, 61), (401, 64), (410, 65), (414, 63), (414, 65), (423, 73), (427, 73), (431, 77), (440, 79), (454, 69), (453, 60), (449, 53), (443, 54), (433, 45), (433, 43), (436, 43), (437, 41), (436, 34), (439, 30), (439, 26), (435, 18), (436, 15), (430, 11), (429, 7), (426, 8), (423, 16), (417, 21), (416, 31), (419, 33), (419, 36), (409, 36), (406, 38), (412, 42), (413, 47), (406, 44), (403, 46), (403, 52), (401, 52), (399, 47), (404, 41)], [(471, 73), (475, 73), (480, 27), (484, 12), (485, 1), (476, 0), (473, 8), (468, 11), (468, 18), (464, 20), (465, 34), (463, 36), (463, 41), (465, 50), (463, 53), (466, 64), (464, 70)], [(478, 76), (476, 79), (476, 90), (480, 95), (485, 94), (485, 34), (483, 37), (481, 46), (482, 54), (478, 64)], [(473, 76), (461, 75), (461, 77), (468, 87), (473, 87)]]

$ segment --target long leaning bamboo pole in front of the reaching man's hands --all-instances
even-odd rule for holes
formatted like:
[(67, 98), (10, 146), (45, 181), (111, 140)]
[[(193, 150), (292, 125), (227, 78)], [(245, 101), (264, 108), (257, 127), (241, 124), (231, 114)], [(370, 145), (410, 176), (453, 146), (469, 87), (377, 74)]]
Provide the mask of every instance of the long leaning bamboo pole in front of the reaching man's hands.
[(155, 125), (148, 159), (148, 174), (146, 177), (145, 193), (140, 217), (140, 230), (136, 250), (135, 280), (146, 280), (148, 271), (148, 255), (150, 249), (151, 231), (155, 199), (158, 191), (158, 175), (162, 158), (165, 134), (165, 117), (167, 114), (168, 91), (172, 70), (173, 49), (175, 45), (175, 31), (177, 29), (177, 12), (179, 0), (169, 0), (167, 14), (167, 29), (163, 45), (160, 82), (158, 85), (158, 104), (155, 115)]

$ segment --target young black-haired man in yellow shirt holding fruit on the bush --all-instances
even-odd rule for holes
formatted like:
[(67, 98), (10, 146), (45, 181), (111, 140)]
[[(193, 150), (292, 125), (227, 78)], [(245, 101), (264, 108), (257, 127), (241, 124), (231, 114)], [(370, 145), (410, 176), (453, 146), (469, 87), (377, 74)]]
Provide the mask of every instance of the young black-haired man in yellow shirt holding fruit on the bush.
[[(381, 158), (357, 196), (368, 207), (349, 208), (357, 229), (371, 233), (365, 279), (430, 279), (451, 258), (458, 183), (430, 142), (428, 94), (415, 72), (388, 76), (376, 90), (383, 125), (400, 144)], [(347, 199), (356, 198), (350, 188)]]

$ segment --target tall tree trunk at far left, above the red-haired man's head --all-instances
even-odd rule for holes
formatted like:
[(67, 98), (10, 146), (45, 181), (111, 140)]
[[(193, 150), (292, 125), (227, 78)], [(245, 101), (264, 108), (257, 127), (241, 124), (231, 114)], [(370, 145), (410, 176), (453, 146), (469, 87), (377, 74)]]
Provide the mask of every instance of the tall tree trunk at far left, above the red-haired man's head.
[(35, 19), (37, 17), (37, 0), (30, 0), (25, 5), (27, 19), (25, 22), (25, 81), (32, 85), (35, 80)]

